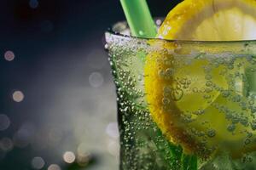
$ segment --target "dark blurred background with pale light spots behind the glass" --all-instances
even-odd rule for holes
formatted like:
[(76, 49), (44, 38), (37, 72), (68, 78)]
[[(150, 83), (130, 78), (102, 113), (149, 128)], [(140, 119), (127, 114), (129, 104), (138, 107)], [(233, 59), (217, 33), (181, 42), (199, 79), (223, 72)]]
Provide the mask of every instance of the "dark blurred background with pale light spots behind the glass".
[[(175, 2), (148, 0), (154, 17)], [(119, 1), (2, 0), (0, 11), (0, 170), (118, 169), (103, 35), (125, 20)]]

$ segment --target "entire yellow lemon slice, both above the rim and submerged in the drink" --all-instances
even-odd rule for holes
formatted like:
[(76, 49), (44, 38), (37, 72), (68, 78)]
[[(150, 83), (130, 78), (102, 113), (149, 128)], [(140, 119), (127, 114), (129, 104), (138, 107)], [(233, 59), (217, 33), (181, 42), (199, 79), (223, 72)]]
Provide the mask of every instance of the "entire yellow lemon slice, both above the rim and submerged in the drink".
[[(185, 0), (167, 15), (158, 37), (245, 40), (256, 39), (255, 30), (253, 0)], [(217, 62), (218, 56), (208, 59), (207, 54), (189, 58), (185, 52), (172, 53), (177, 49), (172, 42), (158, 45), (166, 50), (148, 54), (145, 92), (151, 116), (166, 138), (201, 157), (223, 150), (239, 157), (256, 150), (256, 122), (243, 92), (248, 61), (219, 57)], [(241, 63), (244, 67), (237, 66)]]

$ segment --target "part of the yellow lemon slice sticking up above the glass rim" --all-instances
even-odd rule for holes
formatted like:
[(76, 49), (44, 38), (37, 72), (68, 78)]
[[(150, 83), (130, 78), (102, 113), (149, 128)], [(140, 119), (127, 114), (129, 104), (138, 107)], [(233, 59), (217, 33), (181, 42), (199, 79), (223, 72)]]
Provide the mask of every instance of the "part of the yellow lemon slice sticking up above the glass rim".
[(185, 0), (167, 15), (158, 37), (179, 40), (256, 39), (253, 0)]

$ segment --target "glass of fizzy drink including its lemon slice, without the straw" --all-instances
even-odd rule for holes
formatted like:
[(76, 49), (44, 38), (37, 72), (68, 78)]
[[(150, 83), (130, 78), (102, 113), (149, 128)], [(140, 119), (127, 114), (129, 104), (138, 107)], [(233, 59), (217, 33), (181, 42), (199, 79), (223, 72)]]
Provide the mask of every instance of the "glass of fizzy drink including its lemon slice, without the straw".
[[(106, 32), (120, 169), (256, 167), (256, 2), (185, 0), (157, 38)], [(116, 33), (118, 32), (118, 33)]]

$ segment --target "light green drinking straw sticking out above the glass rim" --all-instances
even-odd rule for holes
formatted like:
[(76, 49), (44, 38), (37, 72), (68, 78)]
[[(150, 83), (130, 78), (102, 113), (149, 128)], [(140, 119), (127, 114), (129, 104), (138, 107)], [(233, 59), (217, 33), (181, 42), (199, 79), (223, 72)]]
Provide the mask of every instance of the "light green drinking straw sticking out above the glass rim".
[(125, 17), (135, 37), (155, 37), (156, 26), (146, 0), (120, 0)]

